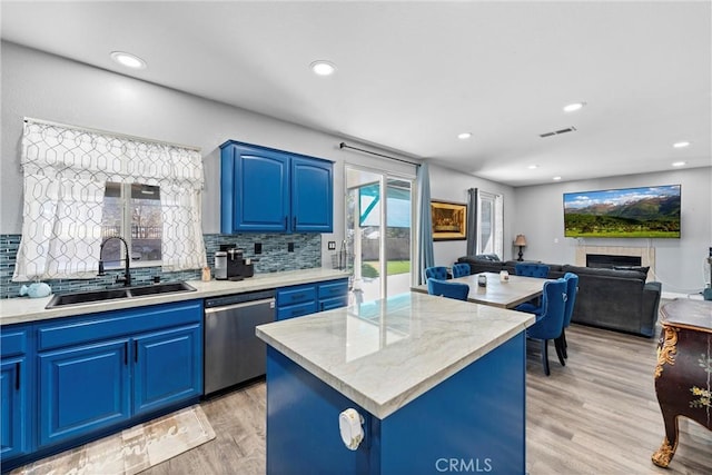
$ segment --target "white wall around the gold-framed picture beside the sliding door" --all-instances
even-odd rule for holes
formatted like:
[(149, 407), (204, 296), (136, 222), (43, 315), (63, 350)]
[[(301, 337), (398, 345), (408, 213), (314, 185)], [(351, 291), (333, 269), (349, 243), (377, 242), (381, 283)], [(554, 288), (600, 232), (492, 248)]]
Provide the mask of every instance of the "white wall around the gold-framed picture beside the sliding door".
[[(481, 191), (490, 191), (503, 196), (504, 206), (504, 260), (512, 258), (513, 232), (513, 210), (516, 209), (516, 191), (514, 188), (485, 180), (483, 178), (463, 175), (448, 168), (431, 165), (431, 198), (435, 200), (467, 202), (467, 189), (479, 188)], [(445, 240), (433, 244), (435, 264), (438, 266), (449, 266), (458, 257), (467, 254), (467, 241)]]

